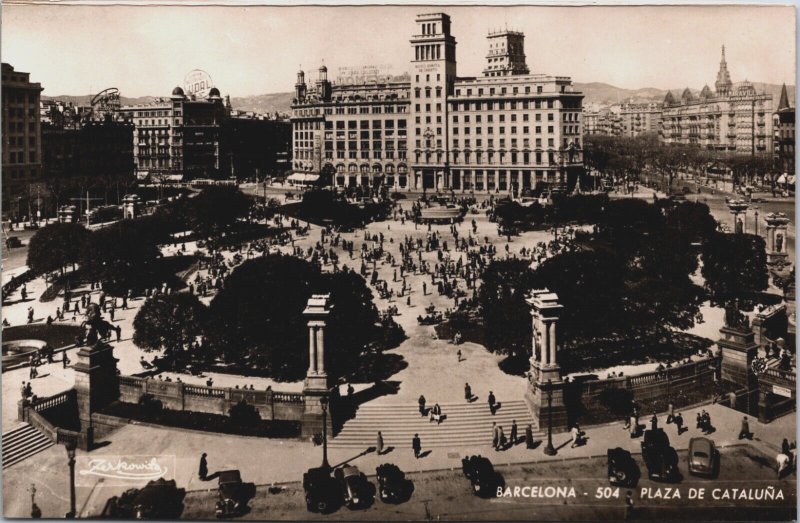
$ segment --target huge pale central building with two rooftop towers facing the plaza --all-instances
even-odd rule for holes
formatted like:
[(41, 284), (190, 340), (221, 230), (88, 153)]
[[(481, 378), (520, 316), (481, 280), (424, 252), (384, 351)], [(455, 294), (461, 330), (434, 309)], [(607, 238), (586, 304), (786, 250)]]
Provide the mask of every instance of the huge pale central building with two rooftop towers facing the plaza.
[[(293, 171), (336, 187), (507, 191), (574, 180), (583, 94), (529, 74), (524, 35), (490, 33), (483, 76), (459, 77), (450, 17), (419, 15), (408, 76), (333, 84), (297, 74)], [(310, 85), (309, 85), (310, 84)]]

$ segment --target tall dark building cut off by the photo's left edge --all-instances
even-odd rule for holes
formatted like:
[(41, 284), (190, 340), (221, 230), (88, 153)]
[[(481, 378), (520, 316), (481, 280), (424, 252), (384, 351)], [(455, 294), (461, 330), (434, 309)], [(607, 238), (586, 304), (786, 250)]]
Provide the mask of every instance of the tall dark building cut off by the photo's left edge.
[(42, 132), (39, 101), (42, 86), (30, 73), (2, 64), (3, 214), (31, 217), (46, 212), (42, 183)]

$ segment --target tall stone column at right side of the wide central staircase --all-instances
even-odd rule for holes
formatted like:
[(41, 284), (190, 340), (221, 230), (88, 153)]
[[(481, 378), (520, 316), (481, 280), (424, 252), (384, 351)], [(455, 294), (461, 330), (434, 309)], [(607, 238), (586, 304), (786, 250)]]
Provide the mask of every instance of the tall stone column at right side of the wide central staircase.
[[(531, 306), (533, 350), (525, 401), (540, 427), (547, 425), (548, 414), (551, 413), (553, 430), (565, 430), (567, 410), (564, 405), (564, 381), (558, 365), (556, 331), (564, 306), (558, 303), (558, 295), (548, 289), (534, 290), (527, 302)], [(550, 398), (548, 383), (552, 393)]]

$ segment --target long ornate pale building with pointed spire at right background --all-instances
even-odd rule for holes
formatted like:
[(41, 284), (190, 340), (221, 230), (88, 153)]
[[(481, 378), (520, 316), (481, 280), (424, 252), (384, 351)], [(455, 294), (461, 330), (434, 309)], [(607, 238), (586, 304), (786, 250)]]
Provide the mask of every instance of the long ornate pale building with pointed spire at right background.
[(687, 87), (680, 98), (668, 92), (659, 137), (666, 144), (692, 144), (731, 154), (772, 153), (772, 95), (756, 92), (748, 81), (731, 82), (725, 46), (715, 90), (695, 96)]

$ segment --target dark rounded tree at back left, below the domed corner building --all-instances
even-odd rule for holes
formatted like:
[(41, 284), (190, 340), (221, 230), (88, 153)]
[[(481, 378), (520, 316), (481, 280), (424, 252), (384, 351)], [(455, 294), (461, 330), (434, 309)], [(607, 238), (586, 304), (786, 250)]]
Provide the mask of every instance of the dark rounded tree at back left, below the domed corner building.
[(189, 219), (195, 232), (218, 234), (247, 215), (250, 198), (238, 187), (216, 185), (203, 189), (189, 200)]

